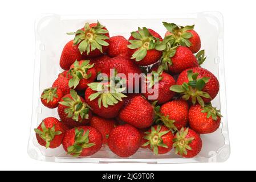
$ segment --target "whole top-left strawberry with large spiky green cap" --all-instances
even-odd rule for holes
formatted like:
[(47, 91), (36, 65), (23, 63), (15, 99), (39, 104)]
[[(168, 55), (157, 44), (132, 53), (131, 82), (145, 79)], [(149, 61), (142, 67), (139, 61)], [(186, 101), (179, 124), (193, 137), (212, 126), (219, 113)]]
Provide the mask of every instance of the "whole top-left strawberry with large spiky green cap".
[(68, 35), (75, 35), (73, 43), (78, 46), (83, 57), (97, 57), (107, 52), (109, 33), (99, 22), (86, 23), (82, 29)]

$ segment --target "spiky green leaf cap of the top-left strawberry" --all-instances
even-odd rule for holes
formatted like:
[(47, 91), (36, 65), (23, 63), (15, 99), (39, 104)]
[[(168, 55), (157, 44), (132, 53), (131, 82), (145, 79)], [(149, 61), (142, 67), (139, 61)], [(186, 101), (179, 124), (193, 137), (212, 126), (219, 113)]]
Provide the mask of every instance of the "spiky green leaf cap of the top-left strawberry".
[(104, 29), (104, 26), (97, 22), (95, 27), (90, 27), (90, 23), (86, 23), (84, 25), (84, 30), (80, 29), (76, 32), (67, 33), (68, 35), (75, 35), (74, 45), (79, 45), (78, 49), (80, 53), (86, 52), (87, 55), (94, 51), (95, 49), (99, 49), (101, 53), (103, 53), (102, 46), (109, 46), (105, 40), (109, 39), (107, 34), (108, 30)]

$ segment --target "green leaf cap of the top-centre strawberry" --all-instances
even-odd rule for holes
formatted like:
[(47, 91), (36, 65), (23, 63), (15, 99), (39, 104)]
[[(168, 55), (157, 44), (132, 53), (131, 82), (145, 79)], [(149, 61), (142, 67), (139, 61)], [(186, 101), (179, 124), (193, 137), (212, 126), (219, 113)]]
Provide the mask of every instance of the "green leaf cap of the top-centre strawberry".
[(159, 38), (151, 35), (148, 28), (138, 28), (138, 31), (131, 32), (134, 40), (129, 40), (127, 47), (130, 49), (137, 49), (133, 53), (131, 59), (136, 61), (141, 61), (147, 55), (148, 50), (156, 49), (157, 51), (163, 51), (165, 49), (165, 44), (163, 44)]

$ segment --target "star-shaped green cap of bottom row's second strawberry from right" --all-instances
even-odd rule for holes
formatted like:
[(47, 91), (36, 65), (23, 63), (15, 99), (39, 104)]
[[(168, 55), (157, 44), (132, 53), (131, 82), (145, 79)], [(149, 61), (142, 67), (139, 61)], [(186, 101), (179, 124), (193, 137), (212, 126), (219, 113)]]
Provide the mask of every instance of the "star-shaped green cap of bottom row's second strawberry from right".
[(151, 132), (145, 132), (144, 139), (148, 140), (143, 144), (143, 147), (150, 146), (151, 150), (155, 155), (159, 154), (159, 147), (168, 148), (168, 146), (163, 142), (162, 136), (168, 134), (170, 131), (161, 131), (161, 125), (157, 125), (157, 129), (155, 127), (151, 127)]

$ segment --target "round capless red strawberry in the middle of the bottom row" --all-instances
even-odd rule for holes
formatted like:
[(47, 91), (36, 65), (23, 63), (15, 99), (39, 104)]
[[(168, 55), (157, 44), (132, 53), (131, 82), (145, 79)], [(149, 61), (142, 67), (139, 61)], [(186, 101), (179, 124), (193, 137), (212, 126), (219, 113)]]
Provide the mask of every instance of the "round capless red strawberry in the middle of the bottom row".
[(115, 127), (108, 138), (110, 150), (121, 158), (135, 154), (140, 148), (140, 143), (140, 132), (128, 124)]

